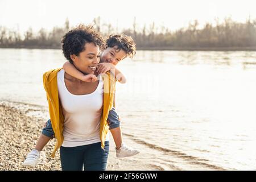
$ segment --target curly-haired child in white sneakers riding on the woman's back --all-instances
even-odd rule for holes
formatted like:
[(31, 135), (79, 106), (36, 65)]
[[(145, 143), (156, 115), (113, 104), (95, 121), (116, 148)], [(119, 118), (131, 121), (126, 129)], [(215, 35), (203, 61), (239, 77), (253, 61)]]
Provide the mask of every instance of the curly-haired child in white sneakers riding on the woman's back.
[[(114, 72), (116, 80), (124, 84), (126, 82), (125, 76), (115, 68), (115, 65), (119, 61), (125, 59), (126, 57), (132, 58), (136, 53), (136, 47), (133, 39), (126, 35), (110, 35), (107, 39), (107, 48), (100, 55), (100, 64), (96, 69), (94, 74), (99, 75), (101, 73), (106, 73), (107, 71)], [(63, 65), (63, 69), (69, 75), (79, 78), (82, 81), (97, 81), (97, 77), (93, 74), (84, 75), (72, 63), (68, 61)], [(126, 146), (122, 142), (122, 133), (120, 127), (119, 116), (113, 107), (109, 111), (108, 117), (109, 129), (112, 133), (115, 142), (115, 151), (117, 158), (123, 158), (127, 156), (133, 156), (139, 153), (138, 150)], [(27, 155), (26, 160), (23, 162), (23, 166), (35, 167), (39, 162), (40, 151), (43, 150), (44, 146), (54, 138), (54, 133), (52, 130), (52, 125), (50, 119), (47, 121), (46, 126), (42, 130), (38, 142), (35, 148)]]

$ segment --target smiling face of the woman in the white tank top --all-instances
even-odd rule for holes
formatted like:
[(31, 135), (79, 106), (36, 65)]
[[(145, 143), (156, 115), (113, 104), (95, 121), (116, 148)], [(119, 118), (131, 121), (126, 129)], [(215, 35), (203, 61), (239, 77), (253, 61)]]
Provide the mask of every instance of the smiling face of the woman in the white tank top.
[(100, 48), (94, 43), (86, 43), (85, 50), (80, 52), (78, 56), (71, 55), (73, 64), (82, 73), (94, 74), (96, 66), (100, 62)]

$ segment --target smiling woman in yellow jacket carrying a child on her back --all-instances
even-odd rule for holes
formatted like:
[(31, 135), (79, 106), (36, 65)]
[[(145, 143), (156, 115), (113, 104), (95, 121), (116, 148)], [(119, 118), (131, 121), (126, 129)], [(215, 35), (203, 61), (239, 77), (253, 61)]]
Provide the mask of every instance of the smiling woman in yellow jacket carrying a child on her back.
[(109, 154), (108, 118), (113, 107), (114, 76), (93, 75), (99, 63), (102, 36), (90, 26), (80, 25), (63, 37), (63, 53), (79, 71), (90, 75), (84, 82), (54, 69), (44, 73), (49, 114), (60, 148), (63, 170), (105, 170)]

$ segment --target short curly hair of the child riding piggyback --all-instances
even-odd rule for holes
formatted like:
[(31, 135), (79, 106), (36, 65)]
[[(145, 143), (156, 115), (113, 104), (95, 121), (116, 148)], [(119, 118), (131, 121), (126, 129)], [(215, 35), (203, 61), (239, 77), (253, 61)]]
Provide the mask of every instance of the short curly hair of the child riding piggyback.
[(117, 46), (118, 50), (123, 49), (123, 51), (126, 52), (126, 55), (130, 58), (133, 58), (136, 54), (136, 44), (131, 36), (127, 36), (125, 34), (109, 35), (106, 43), (108, 47)]

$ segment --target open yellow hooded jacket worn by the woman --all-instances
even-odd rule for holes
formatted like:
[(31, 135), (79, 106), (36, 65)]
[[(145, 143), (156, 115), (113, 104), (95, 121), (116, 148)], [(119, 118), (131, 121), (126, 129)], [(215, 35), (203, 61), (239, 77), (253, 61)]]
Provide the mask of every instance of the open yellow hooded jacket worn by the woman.
[[(63, 129), (64, 129), (64, 115), (61, 105), (59, 104), (59, 94), (57, 88), (57, 73), (61, 70), (52, 69), (44, 73), (43, 83), (44, 89), (47, 93), (47, 100), (49, 105), (49, 115), (51, 118), (52, 129), (55, 134), (56, 144), (52, 152), (52, 158), (55, 156), (55, 152), (60, 148), (63, 143)], [(114, 90), (115, 90), (115, 77), (107, 72), (103, 76), (104, 79), (104, 96), (103, 96), (103, 112), (100, 121), (100, 139), (101, 148), (105, 146), (106, 134), (109, 131), (109, 126), (107, 123), (109, 110), (113, 107), (114, 102)]]

